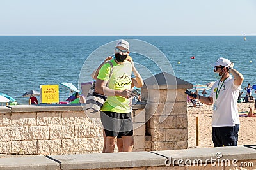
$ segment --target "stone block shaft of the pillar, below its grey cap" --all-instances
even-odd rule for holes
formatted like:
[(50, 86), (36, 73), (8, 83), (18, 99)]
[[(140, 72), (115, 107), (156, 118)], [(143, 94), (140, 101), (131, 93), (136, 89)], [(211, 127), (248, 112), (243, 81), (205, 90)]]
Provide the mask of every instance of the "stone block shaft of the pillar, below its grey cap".
[(177, 92), (179, 97), (176, 98), (176, 101), (164, 97), (160, 97), (159, 101), (147, 101), (146, 129), (152, 138), (151, 150), (188, 148), (186, 95), (184, 95), (184, 90), (168, 91), (170, 93)]

